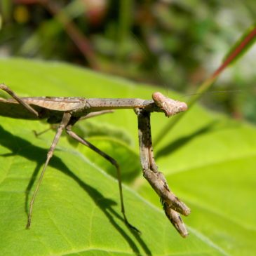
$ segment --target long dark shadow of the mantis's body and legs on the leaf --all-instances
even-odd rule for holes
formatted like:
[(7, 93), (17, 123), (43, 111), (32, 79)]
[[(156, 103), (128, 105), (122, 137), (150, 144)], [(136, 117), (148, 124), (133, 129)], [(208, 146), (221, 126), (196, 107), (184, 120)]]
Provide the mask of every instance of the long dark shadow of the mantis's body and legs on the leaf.
[[(29, 184), (27, 185), (27, 188), (25, 191), (25, 195), (26, 195), (25, 196), (25, 198), (26, 198), (25, 199), (25, 211), (26, 211), (26, 213), (28, 213), (27, 209), (28, 209), (28, 205), (29, 205), (29, 193), (32, 189), (32, 186), (33, 186), (35, 180), (36, 180), (36, 176), (38, 175), (39, 170), (41, 169), (41, 167), (43, 166), (43, 163), (46, 160), (46, 155), (47, 155), (48, 150), (42, 149), (40, 147), (36, 147), (33, 144), (31, 144), (30, 142), (28, 142), (27, 140), (24, 140), (21, 137), (12, 135), (7, 130), (4, 130), (4, 128), (2, 128), (1, 126), (0, 126), (0, 144), (3, 147), (6, 147), (12, 151), (10, 154), (4, 154), (1, 156), (8, 157), (8, 156), (20, 155), (20, 156), (25, 157), (29, 161), (36, 162), (36, 168), (33, 171), (32, 177), (31, 177)], [(100, 194), (100, 192), (97, 191), (97, 189), (91, 187), (90, 185), (88, 185), (85, 182), (83, 182), (82, 180), (80, 180), (80, 178), (77, 177), (74, 173), (72, 173), (72, 171), (69, 170), (69, 168), (67, 168), (65, 163), (63, 163), (62, 160), (60, 158), (58, 158), (57, 156), (53, 156), (53, 158), (50, 160), (49, 166), (62, 171), (66, 175), (69, 175), (69, 177), (72, 177), (72, 179), (74, 179), (79, 184), (79, 186), (84, 191), (86, 191), (86, 193), (91, 198), (93, 198), (93, 201), (95, 202), (97, 207), (100, 208), (100, 210), (102, 210), (102, 213), (104, 213), (106, 215), (109, 222), (112, 223), (113, 227), (117, 231), (119, 231), (119, 234), (121, 234), (121, 236), (123, 236), (123, 238), (126, 239), (126, 241), (130, 245), (130, 248), (133, 250), (133, 252), (135, 252), (136, 255), (140, 255), (140, 250), (139, 250), (139, 248), (137, 248), (137, 245), (133, 242), (133, 240), (130, 238), (130, 236), (128, 236), (128, 234), (126, 234), (126, 232), (123, 231), (123, 229), (121, 229), (121, 227), (119, 227), (119, 225), (114, 220), (114, 218), (116, 217), (119, 220), (123, 221), (123, 217), (121, 217), (121, 215), (119, 215), (119, 213), (116, 213), (116, 211), (112, 208), (112, 206), (116, 205), (116, 202), (112, 201), (112, 199), (106, 198), (105, 196)], [(129, 231), (133, 234), (133, 236), (135, 236), (137, 241), (142, 246), (144, 252), (146, 252), (147, 255), (151, 255), (149, 248), (144, 243), (141, 236), (139, 234), (137, 234), (135, 231), (132, 231), (130, 229), (129, 229)]]

